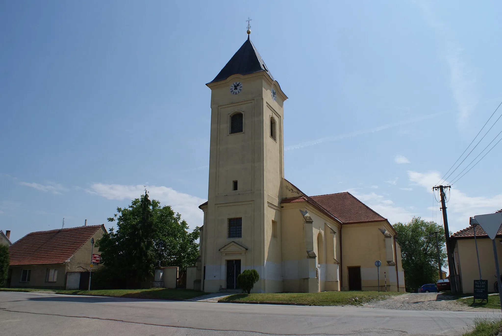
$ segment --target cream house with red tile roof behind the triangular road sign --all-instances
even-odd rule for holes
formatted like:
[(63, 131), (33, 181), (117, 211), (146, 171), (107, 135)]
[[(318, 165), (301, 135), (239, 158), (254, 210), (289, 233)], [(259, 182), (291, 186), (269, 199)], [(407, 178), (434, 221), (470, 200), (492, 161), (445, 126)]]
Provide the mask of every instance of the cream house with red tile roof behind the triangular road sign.
[[(500, 211), (500, 210), (499, 210)], [(497, 211), (497, 212), (499, 212)], [(474, 241), (474, 233), (476, 240)], [(474, 280), (480, 278), (488, 280), (488, 291), (496, 292), (496, 270), (493, 257), (493, 244), (488, 235), (479, 226), (469, 226), (450, 236), (453, 246), (453, 259), (459, 291), (462, 293), (474, 292)], [(498, 230), (495, 238), (499, 268), (502, 270), (502, 228)], [(479, 265), (476, 254), (479, 254)], [(481, 274), (479, 274), (481, 272)]]

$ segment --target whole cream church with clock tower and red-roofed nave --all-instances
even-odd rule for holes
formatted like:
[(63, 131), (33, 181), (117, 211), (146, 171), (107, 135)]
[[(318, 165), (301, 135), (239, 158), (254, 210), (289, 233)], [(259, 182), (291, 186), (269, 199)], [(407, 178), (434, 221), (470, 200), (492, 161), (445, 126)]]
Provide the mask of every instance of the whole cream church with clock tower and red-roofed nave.
[(205, 292), (237, 290), (237, 275), (256, 269), (258, 293), (404, 292), (401, 249), (385, 217), (348, 192), (308, 196), (284, 178), (288, 97), (247, 33), (206, 84), (209, 190), (199, 206), (197, 271), (187, 284)]

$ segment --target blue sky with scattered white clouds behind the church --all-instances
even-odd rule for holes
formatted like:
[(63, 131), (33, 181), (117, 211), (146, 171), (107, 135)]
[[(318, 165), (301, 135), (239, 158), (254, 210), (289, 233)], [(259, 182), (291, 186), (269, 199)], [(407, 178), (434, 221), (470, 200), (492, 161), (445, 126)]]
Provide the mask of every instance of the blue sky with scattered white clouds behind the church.
[[(286, 178), (309, 195), (348, 190), (391, 223), (441, 222), (430, 188), (502, 101), (499, 13), (458, 1), (2, 2), (0, 230), (16, 241), (63, 217), (106, 223), (143, 185), (200, 226), (204, 84), (248, 17), (289, 96)], [(502, 120), (464, 165), (500, 131)], [(502, 208), (500, 153), (454, 184), (451, 231)]]

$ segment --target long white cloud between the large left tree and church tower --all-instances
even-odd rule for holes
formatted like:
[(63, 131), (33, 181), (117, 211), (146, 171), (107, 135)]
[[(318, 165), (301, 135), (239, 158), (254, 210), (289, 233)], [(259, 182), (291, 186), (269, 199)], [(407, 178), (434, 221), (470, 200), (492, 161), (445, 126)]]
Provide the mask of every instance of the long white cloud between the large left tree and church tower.
[[(198, 206), (204, 203), (206, 201), (205, 199), (178, 192), (170, 187), (147, 185), (146, 189), (148, 190), (150, 199), (159, 200), (161, 205), (171, 205), (175, 212), (181, 213), (182, 219), (187, 221), (190, 229), (194, 229), (196, 226), (202, 226), (204, 214)], [(142, 184), (123, 185), (94, 183), (87, 192), (107, 199), (133, 200), (139, 198), (140, 195), (145, 192), (145, 186)]]

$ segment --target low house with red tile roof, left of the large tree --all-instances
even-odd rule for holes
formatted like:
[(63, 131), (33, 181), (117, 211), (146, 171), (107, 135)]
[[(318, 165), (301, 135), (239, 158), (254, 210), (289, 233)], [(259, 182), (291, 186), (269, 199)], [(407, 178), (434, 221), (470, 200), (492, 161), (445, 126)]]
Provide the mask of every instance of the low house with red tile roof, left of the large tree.
[(29, 233), (9, 247), (12, 288), (87, 289), (93, 247), (104, 225)]

